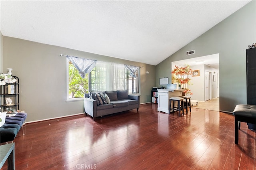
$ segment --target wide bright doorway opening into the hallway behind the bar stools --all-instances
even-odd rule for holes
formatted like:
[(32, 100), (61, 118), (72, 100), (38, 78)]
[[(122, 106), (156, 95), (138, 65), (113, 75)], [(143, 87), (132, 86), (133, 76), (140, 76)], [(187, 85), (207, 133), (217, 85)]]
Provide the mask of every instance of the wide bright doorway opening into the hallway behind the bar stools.
[[(219, 111), (219, 54), (174, 61), (172, 68), (175, 65), (186, 64), (190, 65), (192, 70), (200, 70), (199, 77), (192, 77), (192, 79), (196, 79), (196, 82), (194, 86), (190, 85), (190, 89), (193, 88), (191, 100), (198, 101), (199, 105), (200, 103), (201, 105), (212, 105), (212, 107), (205, 108), (215, 108), (214, 111)], [(200, 85), (198, 85), (199, 83)], [(199, 105), (198, 108), (200, 108)]]

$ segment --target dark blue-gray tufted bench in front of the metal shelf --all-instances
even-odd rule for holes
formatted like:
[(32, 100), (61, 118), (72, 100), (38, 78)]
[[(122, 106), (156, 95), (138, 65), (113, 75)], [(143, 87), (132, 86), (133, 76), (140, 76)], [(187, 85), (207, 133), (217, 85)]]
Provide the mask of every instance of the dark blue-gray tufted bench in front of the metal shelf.
[(26, 127), (24, 127), (26, 118), (27, 113), (17, 113), (13, 117), (6, 117), (4, 125), (0, 128), (1, 143), (14, 140), (21, 127), (24, 135), (26, 130)]

